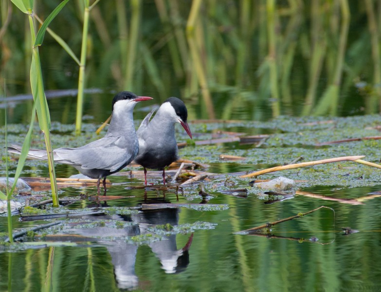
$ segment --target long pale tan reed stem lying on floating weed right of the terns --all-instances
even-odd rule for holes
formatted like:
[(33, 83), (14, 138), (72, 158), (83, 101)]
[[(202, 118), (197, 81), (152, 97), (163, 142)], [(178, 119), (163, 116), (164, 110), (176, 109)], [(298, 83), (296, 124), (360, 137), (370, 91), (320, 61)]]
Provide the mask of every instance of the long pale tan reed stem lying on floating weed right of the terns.
[[(329, 159), (323, 159), (323, 160), (302, 162), (302, 163), (297, 163), (297, 164), (275, 166), (275, 167), (263, 169), (260, 171), (256, 171), (253, 173), (249, 173), (246, 175), (242, 175), (240, 177), (241, 178), (250, 178), (250, 177), (258, 176), (258, 175), (265, 174), (265, 173), (275, 172), (275, 171), (279, 171), (279, 170), (293, 169), (293, 168), (313, 166), (313, 165), (326, 164), (326, 163), (332, 163), (332, 162), (340, 162), (340, 161), (354, 161), (354, 162), (363, 163), (364, 161), (361, 160), (361, 158), (363, 158), (363, 157), (365, 157), (365, 156), (364, 155), (361, 155), (361, 156), (343, 156), (343, 157), (329, 158)], [(357, 161), (357, 160), (360, 160), (360, 161)], [(376, 164), (376, 165), (378, 165), (378, 164)], [(381, 168), (381, 165), (379, 165), (379, 166)]]

